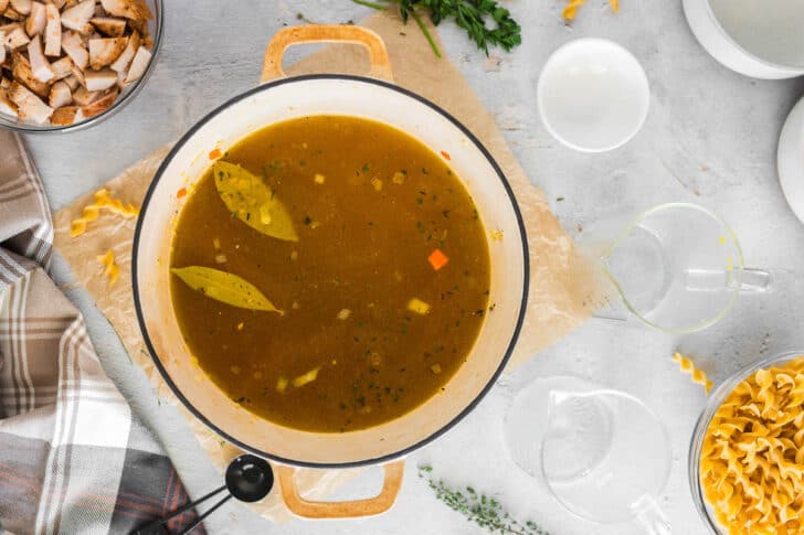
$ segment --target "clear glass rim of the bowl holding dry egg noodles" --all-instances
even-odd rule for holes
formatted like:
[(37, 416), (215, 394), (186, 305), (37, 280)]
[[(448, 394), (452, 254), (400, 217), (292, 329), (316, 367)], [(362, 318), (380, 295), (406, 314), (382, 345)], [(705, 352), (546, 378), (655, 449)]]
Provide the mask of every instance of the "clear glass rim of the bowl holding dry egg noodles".
[(712, 394), (709, 396), (709, 400), (707, 402), (707, 406), (704, 409), (704, 413), (701, 413), (700, 417), (698, 417), (698, 421), (695, 425), (695, 430), (692, 431), (692, 440), (689, 445), (689, 488), (692, 492), (692, 501), (695, 502), (695, 507), (698, 510), (698, 514), (700, 514), (701, 521), (706, 526), (709, 527), (709, 532), (712, 534), (726, 535), (728, 534), (728, 531), (721, 527), (718, 521), (715, 518), (711, 506), (704, 497), (704, 489), (701, 488), (700, 478), (698, 477), (698, 473), (700, 471), (700, 453), (704, 447), (704, 437), (706, 436), (707, 429), (709, 428), (709, 424), (715, 417), (715, 413), (718, 410), (723, 400), (726, 400), (729, 394), (731, 394), (734, 387), (737, 387), (737, 385), (739, 385), (751, 374), (761, 368), (768, 368), (772, 366), (779, 366), (780, 364), (785, 364), (800, 356), (804, 356), (804, 350), (786, 351), (775, 356), (763, 359), (761, 361), (744, 366), (743, 368), (731, 375), (723, 383), (718, 385), (715, 392), (712, 392)]

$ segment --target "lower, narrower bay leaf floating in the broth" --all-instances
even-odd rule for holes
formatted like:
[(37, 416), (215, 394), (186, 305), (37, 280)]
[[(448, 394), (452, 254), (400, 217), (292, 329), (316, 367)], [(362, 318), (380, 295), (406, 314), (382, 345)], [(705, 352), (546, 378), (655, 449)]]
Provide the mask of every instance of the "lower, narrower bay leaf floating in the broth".
[(236, 275), (203, 266), (170, 268), (170, 271), (193, 290), (198, 290), (215, 301), (241, 309), (284, 314), (256, 286)]

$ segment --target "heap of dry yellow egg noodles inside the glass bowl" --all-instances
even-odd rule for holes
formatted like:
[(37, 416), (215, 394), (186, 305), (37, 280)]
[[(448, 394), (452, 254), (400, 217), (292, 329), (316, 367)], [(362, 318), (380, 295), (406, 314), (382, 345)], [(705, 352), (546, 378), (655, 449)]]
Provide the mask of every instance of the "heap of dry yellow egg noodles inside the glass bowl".
[(759, 370), (720, 405), (700, 482), (730, 535), (804, 533), (804, 359)]

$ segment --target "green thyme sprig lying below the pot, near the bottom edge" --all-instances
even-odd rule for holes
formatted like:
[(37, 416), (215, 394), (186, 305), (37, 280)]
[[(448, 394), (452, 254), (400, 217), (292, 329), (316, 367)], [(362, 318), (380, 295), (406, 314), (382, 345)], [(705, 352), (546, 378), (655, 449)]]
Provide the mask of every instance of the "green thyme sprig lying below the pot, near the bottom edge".
[(435, 497), (444, 502), (448, 507), (466, 516), (466, 520), (485, 527), (490, 533), (505, 535), (550, 535), (539, 527), (533, 521), (523, 524), (511, 518), (510, 514), (503, 510), (503, 505), (486, 494), (478, 494), (472, 486), (463, 490), (452, 489), (444, 481), (435, 481), (431, 477), (433, 467), (429, 464), (419, 466), (419, 477), (427, 482), (435, 492)]

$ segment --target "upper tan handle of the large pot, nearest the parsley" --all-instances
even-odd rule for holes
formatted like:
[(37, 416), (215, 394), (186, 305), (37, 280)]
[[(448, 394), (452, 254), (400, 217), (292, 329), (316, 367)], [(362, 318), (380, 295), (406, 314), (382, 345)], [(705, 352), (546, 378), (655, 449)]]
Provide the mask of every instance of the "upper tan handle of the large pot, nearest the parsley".
[(371, 76), (393, 82), (391, 60), (388, 56), (385, 43), (377, 33), (368, 28), (350, 24), (309, 24), (285, 28), (274, 35), (265, 51), (261, 83), (285, 77), (285, 72), (282, 69), (282, 57), (285, 50), (294, 44), (303, 43), (355, 43), (363, 45), (369, 51)]

